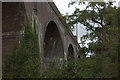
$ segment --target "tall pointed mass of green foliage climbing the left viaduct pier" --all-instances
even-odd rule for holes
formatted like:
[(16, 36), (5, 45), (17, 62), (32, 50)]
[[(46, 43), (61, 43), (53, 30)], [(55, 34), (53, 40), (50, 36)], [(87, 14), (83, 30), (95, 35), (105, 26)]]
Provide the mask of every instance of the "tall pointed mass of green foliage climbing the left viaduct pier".
[(38, 35), (29, 21), (25, 27), (19, 45), (13, 49), (13, 53), (6, 57), (3, 68), (3, 78), (37, 78), (40, 77), (41, 60)]

